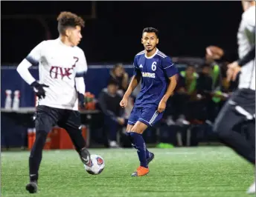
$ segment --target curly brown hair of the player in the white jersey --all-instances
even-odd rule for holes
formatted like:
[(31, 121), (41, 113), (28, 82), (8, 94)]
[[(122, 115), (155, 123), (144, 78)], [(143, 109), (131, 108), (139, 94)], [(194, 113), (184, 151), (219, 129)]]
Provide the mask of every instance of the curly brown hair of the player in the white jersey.
[(74, 13), (62, 12), (57, 17), (58, 21), (58, 31), (60, 34), (65, 33), (67, 27), (84, 27), (84, 21), (80, 16), (77, 16)]

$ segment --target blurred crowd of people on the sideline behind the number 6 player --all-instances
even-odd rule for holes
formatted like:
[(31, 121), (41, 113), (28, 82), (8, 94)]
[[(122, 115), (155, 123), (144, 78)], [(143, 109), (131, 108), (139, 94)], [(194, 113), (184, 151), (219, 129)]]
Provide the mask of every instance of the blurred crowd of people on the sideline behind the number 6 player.
[[(198, 126), (197, 131), (199, 128), (203, 130), (205, 139), (211, 138), (211, 131), (206, 129), (211, 130), (221, 107), (237, 88), (239, 78), (238, 74), (234, 81), (228, 81), (226, 78), (228, 61), (219, 57), (217, 59), (211, 59), (207, 56), (205, 59), (173, 58), (177, 64), (182, 63), (186, 66), (179, 70), (176, 76), (178, 79), (176, 90), (167, 101), (164, 118), (156, 126), (161, 134), (170, 134), (167, 134), (167, 138), (160, 134), (162, 138), (159, 147), (168, 147), (168, 144), (182, 146), (184, 137), (176, 137), (177, 131), (184, 133), (194, 126)], [(122, 109), (119, 105), (129, 85), (129, 77), (122, 64), (115, 64), (109, 72), (109, 79), (106, 84), (106, 88), (101, 91), (98, 98), (97, 107), (102, 110), (105, 116), (104, 127), (110, 133), (109, 145), (117, 147), (116, 133), (118, 130), (125, 130), (127, 126), (127, 119), (140, 90), (140, 84), (132, 93), (126, 109)], [(196, 135), (197, 131), (193, 131), (193, 135)], [(185, 133), (187, 134), (187, 132)], [(199, 139), (193, 141), (195, 144), (198, 142)]]

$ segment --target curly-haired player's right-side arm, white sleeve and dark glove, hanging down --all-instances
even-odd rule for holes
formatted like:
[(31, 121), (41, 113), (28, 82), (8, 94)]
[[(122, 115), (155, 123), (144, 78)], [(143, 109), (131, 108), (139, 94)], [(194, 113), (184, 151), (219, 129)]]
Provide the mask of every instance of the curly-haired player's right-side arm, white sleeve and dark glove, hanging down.
[(86, 56), (84, 55), (83, 51), (80, 56), (74, 57), (76, 61), (74, 64), (75, 70), (75, 87), (77, 90), (78, 100), (80, 107), (83, 108), (84, 106), (84, 93), (86, 93), (86, 84), (84, 82), (84, 76), (88, 70)]

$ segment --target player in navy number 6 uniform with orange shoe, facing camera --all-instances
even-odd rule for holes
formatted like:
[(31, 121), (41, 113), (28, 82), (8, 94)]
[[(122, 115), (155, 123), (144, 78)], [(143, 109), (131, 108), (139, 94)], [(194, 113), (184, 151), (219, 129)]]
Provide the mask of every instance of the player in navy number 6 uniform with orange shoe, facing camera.
[(142, 133), (147, 127), (153, 127), (163, 116), (167, 99), (176, 87), (177, 73), (170, 57), (156, 48), (159, 44), (159, 31), (156, 28), (144, 28), (141, 44), (144, 50), (135, 56), (134, 76), (120, 102), (121, 107), (127, 107), (129, 96), (141, 80), (141, 91), (127, 124), (127, 136), (137, 150), (140, 161), (140, 166), (132, 176), (144, 176), (150, 172), (148, 164), (154, 154), (147, 150)]

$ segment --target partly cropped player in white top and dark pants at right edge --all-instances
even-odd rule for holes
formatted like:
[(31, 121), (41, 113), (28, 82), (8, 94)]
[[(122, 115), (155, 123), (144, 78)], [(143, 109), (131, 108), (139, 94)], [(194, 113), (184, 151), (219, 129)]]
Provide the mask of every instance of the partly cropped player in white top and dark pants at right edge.
[[(238, 90), (225, 103), (215, 124), (214, 132), (224, 144), (255, 165), (255, 1), (242, 1), (243, 16), (237, 33), (239, 60), (228, 65), (228, 80), (240, 72)], [(208, 47), (207, 55), (223, 56), (218, 47)], [(219, 57), (218, 57), (219, 56)], [(237, 124), (246, 124), (249, 139), (234, 131)], [(255, 183), (248, 193), (255, 193)]]

